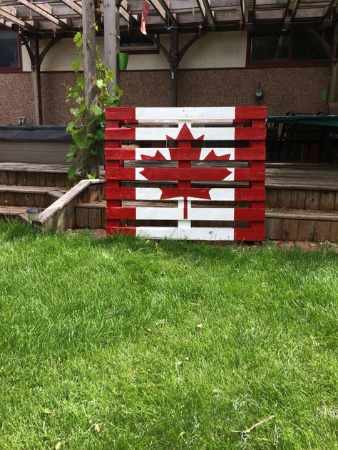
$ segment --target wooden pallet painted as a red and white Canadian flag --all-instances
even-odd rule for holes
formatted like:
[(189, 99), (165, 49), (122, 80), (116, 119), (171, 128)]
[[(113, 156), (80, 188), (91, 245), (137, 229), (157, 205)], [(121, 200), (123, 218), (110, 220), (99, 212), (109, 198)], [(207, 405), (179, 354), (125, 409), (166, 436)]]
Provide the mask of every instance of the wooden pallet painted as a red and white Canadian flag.
[[(107, 233), (133, 234), (152, 239), (264, 239), (265, 117), (265, 108), (250, 107), (108, 108)], [(171, 145), (177, 145), (133, 149), (123, 148), (122, 140), (170, 141)], [(248, 141), (249, 146), (226, 146), (228, 142), (241, 140)], [(204, 141), (227, 142), (224, 147), (203, 147)], [(196, 148), (199, 143), (200, 147)], [(135, 161), (137, 167), (123, 167), (125, 161)], [(247, 167), (227, 167), (227, 162), (232, 161), (247, 162)], [(168, 167), (165, 165), (168, 162), (177, 163), (175, 167)], [(195, 167), (193, 162), (203, 163), (203, 167)], [(204, 167), (208, 163), (212, 166)], [(135, 182), (135, 187), (121, 187), (122, 182)], [(158, 186), (138, 187), (140, 182), (157, 183)], [(165, 187), (161, 182), (177, 185)], [(203, 183), (203, 187), (195, 187), (193, 182)], [(217, 187), (205, 187), (208, 182)], [(250, 185), (222, 187), (222, 184), (227, 183), (228, 186), (234, 182), (250, 182)], [(132, 205), (123, 204), (130, 201), (133, 201)], [(156, 206), (151, 206), (152, 202), (156, 202)], [(162, 206), (158, 206), (158, 202)], [(203, 206), (195, 202), (203, 202)], [(208, 206), (208, 202), (212, 204)], [(236, 204), (215, 206), (215, 202)], [(238, 202), (249, 202), (249, 206), (237, 206)], [(121, 221), (128, 220), (141, 223), (177, 221), (177, 226), (121, 226)], [(199, 227), (192, 226), (192, 221), (245, 221), (249, 226)]]

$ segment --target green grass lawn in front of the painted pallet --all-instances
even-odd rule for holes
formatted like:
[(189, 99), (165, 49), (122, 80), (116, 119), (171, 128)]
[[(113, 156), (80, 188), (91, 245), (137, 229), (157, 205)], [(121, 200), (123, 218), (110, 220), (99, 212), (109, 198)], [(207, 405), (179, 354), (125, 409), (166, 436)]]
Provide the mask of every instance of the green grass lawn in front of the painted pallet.
[(0, 223), (0, 449), (337, 449), (337, 259)]

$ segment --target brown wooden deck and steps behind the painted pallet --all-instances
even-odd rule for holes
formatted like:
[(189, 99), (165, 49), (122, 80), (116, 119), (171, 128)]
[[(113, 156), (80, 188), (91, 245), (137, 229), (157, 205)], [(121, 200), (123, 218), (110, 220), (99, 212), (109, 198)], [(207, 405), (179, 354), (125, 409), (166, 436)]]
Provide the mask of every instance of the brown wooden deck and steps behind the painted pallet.
[[(168, 165), (174, 164), (169, 162)], [(229, 166), (231, 164), (234, 163), (230, 162)], [(155, 164), (145, 162), (145, 165)], [(0, 163), (0, 216), (22, 215), (25, 219), (23, 212), (27, 206), (44, 209), (56, 202), (66, 192), (67, 171), (66, 164)], [(338, 241), (337, 164), (267, 163), (266, 173), (267, 239)], [(101, 177), (104, 179), (103, 167)], [(163, 184), (147, 180), (138, 183), (140, 186)], [(226, 183), (223, 183), (224, 187)], [(73, 201), (73, 216), (67, 224), (75, 228), (104, 228), (104, 182), (101, 182), (100, 194), (96, 195), (92, 187), (91, 191), (88, 189)], [(196, 202), (195, 207), (198, 206)]]

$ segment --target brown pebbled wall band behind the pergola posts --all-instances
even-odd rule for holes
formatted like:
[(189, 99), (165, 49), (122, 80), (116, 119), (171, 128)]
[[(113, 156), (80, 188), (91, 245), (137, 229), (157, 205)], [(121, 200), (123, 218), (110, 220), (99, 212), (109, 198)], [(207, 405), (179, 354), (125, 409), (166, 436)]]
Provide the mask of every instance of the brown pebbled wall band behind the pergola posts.
[[(321, 90), (327, 88), (329, 68), (269, 68), (180, 70), (178, 102), (185, 106), (255, 105), (255, 89), (264, 90), (262, 104), (270, 115), (287, 111), (324, 111)], [(66, 85), (73, 73), (42, 73), (43, 122), (68, 122)], [(169, 106), (168, 70), (126, 71), (121, 73), (124, 90), (122, 105)], [(33, 123), (31, 74), (0, 74), (0, 125), (16, 123), (20, 115)]]

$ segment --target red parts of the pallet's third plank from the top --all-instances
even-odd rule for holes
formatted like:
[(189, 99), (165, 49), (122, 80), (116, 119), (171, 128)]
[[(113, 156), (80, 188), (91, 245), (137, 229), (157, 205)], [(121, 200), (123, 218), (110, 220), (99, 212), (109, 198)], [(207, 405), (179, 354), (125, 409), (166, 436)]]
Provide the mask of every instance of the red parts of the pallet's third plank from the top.
[[(170, 160), (171, 161), (200, 161), (200, 148), (170, 148)], [(135, 149), (133, 148), (113, 148), (108, 143), (106, 145), (106, 160), (116, 160), (123, 159), (126, 161), (135, 160)], [(215, 152), (210, 152), (206, 159), (203, 161), (209, 160), (218, 160), (218, 161), (227, 161), (229, 159), (229, 155), (221, 155), (216, 156)], [(250, 148), (236, 148), (235, 149), (235, 161), (247, 161), (247, 160), (265, 160), (265, 147), (255, 148), (255, 150)], [(146, 160), (165, 160), (163, 155), (160, 152), (157, 152), (155, 156), (150, 157), (148, 155), (143, 155), (140, 161)]]

